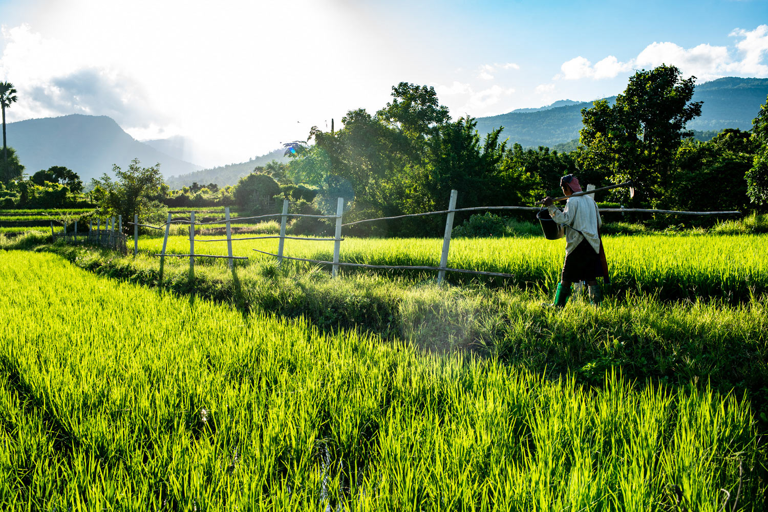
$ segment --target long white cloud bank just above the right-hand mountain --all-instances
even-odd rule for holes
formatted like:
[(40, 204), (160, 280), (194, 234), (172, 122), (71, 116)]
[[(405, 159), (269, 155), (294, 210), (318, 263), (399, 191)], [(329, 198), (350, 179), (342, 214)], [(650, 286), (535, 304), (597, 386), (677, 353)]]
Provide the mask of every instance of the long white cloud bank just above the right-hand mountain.
[(751, 31), (737, 28), (730, 36), (741, 38), (730, 49), (727, 46), (708, 44), (683, 48), (669, 41), (653, 42), (636, 58), (627, 62), (620, 62), (613, 55), (608, 55), (594, 66), (580, 55), (564, 62), (561, 73), (555, 75), (554, 79), (615, 78), (633, 68), (655, 68), (660, 64), (677, 66), (684, 75), (694, 75), (699, 81), (709, 81), (729, 74), (768, 77), (768, 64), (765, 63), (768, 54), (768, 25), (760, 25)]

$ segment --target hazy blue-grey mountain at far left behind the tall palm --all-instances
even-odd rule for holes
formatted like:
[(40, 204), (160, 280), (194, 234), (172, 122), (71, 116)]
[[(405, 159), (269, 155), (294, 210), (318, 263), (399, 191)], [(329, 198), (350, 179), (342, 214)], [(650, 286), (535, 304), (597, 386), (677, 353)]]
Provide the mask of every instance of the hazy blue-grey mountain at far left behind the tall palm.
[(63, 165), (87, 182), (111, 173), (113, 164), (126, 168), (134, 158), (147, 166), (159, 162), (164, 176), (200, 169), (134, 140), (106, 116), (71, 114), (29, 119), (8, 123), (6, 131), (8, 146), (15, 148), (28, 174)]

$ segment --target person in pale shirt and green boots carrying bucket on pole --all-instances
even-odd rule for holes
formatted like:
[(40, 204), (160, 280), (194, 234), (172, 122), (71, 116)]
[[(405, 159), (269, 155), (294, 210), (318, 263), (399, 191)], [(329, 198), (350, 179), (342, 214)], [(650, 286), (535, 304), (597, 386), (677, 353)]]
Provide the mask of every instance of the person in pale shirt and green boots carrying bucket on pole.
[(542, 203), (547, 207), (552, 220), (565, 229), (565, 262), (561, 271), (554, 302), (548, 306), (562, 308), (571, 296), (571, 283), (584, 281), (589, 286), (589, 301), (599, 304), (603, 292), (598, 285), (598, 276), (604, 282), (610, 282), (603, 243), (600, 239), (602, 220), (598, 203), (591, 196), (570, 197), (574, 192), (581, 192), (578, 178), (566, 174), (560, 179), (563, 195), (568, 196), (563, 211), (554, 206), (554, 198), (545, 197)]

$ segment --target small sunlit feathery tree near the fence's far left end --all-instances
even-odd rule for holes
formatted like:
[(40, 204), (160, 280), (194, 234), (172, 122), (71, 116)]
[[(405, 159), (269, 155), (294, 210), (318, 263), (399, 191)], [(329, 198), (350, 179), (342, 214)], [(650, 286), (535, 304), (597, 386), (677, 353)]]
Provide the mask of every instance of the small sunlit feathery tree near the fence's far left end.
[(132, 222), (134, 215), (139, 216), (139, 222), (164, 220), (164, 206), (152, 199), (163, 184), (160, 164), (141, 167), (139, 159), (134, 158), (127, 170), (115, 164), (112, 172), (116, 180), (112, 180), (107, 173), (101, 180), (91, 180), (94, 191), (99, 190), (97, 198), (101, 213), (122, 215), (126, 229), (127, 222)]

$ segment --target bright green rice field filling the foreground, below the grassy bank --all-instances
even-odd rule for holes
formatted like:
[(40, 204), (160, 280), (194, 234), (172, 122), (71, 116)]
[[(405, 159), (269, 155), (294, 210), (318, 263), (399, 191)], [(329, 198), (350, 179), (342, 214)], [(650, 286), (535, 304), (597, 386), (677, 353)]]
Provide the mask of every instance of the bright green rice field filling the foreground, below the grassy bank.
[(0, 312), (2, 510), (764, 510), (750, 402), (706, 386), (582, 388), (51, 253), (0, 252)]

